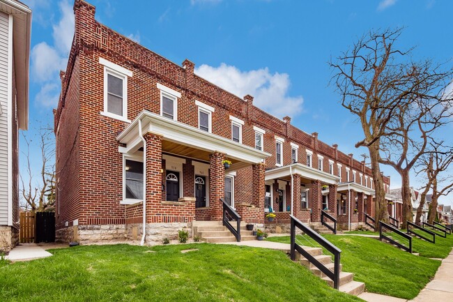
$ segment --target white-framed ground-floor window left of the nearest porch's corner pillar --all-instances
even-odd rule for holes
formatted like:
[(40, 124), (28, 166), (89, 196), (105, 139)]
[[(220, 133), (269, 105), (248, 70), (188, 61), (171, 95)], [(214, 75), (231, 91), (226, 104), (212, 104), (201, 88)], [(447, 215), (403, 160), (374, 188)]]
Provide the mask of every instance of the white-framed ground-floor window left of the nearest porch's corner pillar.
[(123, 200), (135, 204), (143, 200), (143, 158), (123, 155)]

